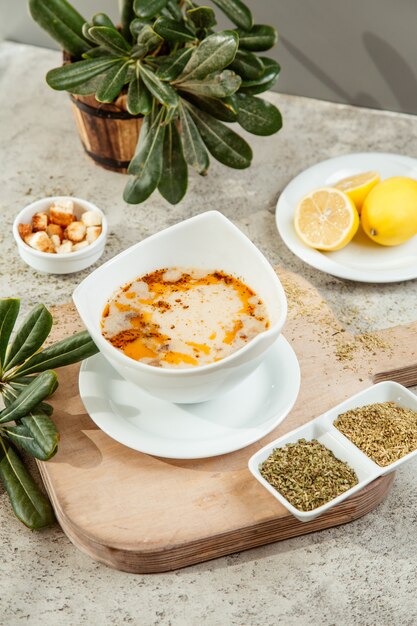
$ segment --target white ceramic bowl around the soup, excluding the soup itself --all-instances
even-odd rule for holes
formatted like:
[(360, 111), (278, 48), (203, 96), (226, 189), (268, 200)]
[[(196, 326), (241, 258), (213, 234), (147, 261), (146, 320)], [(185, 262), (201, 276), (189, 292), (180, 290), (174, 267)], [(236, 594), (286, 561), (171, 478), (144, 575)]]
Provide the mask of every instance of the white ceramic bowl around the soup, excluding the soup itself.
[[(264, 301), (270, 328), (228, 357), (186, 369), (134, 361), (106, 341), (100, 320), (108, 299), (124, 284), (165, 267), (223, 270), (242, 278)], [(218, 211), (208, 211), (128, 248), (92, 272), (74, 291), (82, 321), (103, 356), (126, 380), (177, 403), (209, 400), (255, 370), (278, 338), (287, 315), (282, 285), (263, 254)]]

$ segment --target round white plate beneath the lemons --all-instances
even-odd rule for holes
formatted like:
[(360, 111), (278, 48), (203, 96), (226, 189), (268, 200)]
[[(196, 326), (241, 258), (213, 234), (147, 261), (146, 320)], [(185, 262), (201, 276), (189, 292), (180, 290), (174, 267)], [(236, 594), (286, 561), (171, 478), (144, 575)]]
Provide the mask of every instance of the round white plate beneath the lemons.
[(417, 278), (417, 237), (401, 246), (379, 246), (360, 228), (353, 241), (337, 252), (319, 252), (304, 245), (294, 229), (294, 209), (315, 187), (332, 186), (341, 178), (377, 170), (381, 178), (417, 179), (417, 159), (399, 154), (363, 152), (322, 161), (296, 176), (279, 197), (276, 223), (284, 243), (308, 265), (339, 278), (360, 282), (393, 283)]

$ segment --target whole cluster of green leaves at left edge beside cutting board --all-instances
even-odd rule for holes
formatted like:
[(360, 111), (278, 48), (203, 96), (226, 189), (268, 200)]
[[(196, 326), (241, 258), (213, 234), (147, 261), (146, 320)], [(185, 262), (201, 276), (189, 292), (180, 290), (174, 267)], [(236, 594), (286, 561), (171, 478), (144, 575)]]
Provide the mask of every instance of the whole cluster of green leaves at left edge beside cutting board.
[(57, 452), (59, 433), (50, 419), (53, 408), (45, 402), (58, 387), (52, 368), (98, 350), (87, 331), (42, 350), (53, 322), (43, 304), (30, 311), (12, 337), (19, 309), (17, 298), (0, 298), (0, 482), (16, 516), (33, 529), (51, 524), (54, 514), (21, 453), (48, 461)]

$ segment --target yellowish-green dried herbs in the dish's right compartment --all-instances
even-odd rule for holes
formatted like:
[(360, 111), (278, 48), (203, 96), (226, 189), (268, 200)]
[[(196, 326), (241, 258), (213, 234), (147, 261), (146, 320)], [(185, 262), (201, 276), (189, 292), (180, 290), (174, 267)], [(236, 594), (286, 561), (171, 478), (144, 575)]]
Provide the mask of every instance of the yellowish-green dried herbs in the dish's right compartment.
[(417, 413), (395, 402), (368, 404), (346, 411), (334, 425), (382, 467), (417, 448)]

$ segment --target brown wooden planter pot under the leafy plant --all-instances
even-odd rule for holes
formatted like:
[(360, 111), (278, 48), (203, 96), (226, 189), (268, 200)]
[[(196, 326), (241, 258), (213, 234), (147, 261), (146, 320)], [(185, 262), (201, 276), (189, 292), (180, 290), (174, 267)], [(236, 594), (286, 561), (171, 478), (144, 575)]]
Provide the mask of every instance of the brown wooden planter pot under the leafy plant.
[(130, 115), (126, 96), (112, 104), (94, 96), (70, 94), (72, 110), (84, 150), (97, 165), (126, 173), (139, 137), (143, 116)]

